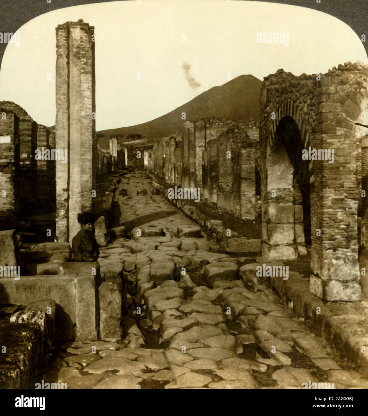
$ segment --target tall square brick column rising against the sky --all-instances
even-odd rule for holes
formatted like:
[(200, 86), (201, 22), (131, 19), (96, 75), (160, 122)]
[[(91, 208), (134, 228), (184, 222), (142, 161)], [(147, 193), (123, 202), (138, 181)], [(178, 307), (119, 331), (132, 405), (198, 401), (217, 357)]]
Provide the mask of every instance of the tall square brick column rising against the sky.
[(83, 20), (56, 28), (56, 235), (71, 241), (80, 229), (77, 214), (93, 210), (95, 189), (95, 43), (94, 27)]

